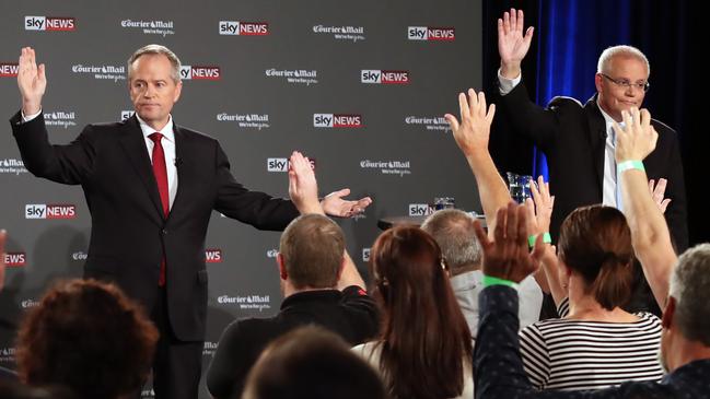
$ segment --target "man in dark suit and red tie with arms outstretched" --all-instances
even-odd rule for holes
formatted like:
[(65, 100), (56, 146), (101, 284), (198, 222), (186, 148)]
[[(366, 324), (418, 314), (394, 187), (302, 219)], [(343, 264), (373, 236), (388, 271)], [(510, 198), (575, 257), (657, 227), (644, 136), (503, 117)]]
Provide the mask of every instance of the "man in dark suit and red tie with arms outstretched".
[[(47, 80), (23, 48), (22, 110), (12, 119), (25, 166), (35, 176), (81, 185), (92, 215), (86, 278), (116, 282), (161, 331), (156, 398), (197, 397), (207, 314), (205, 236), (212, 210), (260, 230), (282, 230), (302, 209), (234, 180), (219, 142), (171, 116), (182, 91), (179, 59), (149, 45), (128, 60), (136, 115), (89, 125), (68, 145), (50, 145), (42, 115)], [(291, 190), (290, 190), (291, 191)], [(371, 201), (326, 197), (329, 214), (348, 216)]]

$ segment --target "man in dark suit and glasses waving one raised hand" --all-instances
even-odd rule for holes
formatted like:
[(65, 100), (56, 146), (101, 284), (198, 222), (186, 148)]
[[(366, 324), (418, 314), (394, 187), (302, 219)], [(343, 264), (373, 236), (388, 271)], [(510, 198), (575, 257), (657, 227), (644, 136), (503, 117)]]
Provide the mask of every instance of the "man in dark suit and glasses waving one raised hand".
[[(498, 20), (501, 68), (496, 103), (513, 133), (531, 138), (547, 155), (550, 191), (556, 196), (550, 230), (557, 237), (564, 218), (580, 206), (604, 203), (624, 210), (612, 126), (621, 122), (622, 110), (641, 107), (649, 89), (650, 67), (638, 49), (610, 47), (600, 57), (594, 77), (597, 93), (586, 104), (555, 97), (547, 108), (542, 108), (529, 101), (521, 82), (521, 62), (533, 38), (533, 27), (523, 35), (523, 12), (514, 9)], [(688, 246), (688, 231), (678, 138), (666, 125), (657, 120), (652, 124), (659, 143), (643, 163), (649, 178), (667, 180), (665, 193), (671, 202), (665, 218), (683, 251)]]

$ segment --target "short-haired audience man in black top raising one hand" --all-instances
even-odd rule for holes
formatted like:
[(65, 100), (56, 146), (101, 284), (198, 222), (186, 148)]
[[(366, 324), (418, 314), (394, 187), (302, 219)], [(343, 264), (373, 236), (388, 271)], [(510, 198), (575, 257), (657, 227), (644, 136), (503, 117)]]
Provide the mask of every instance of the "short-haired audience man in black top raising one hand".
[(290, 164), (289, 195), (302, 215), (279, 243), (281, 309), (275, 317), (242, 319), (224, 329), (207, 372), (207, 387), (218, 399), (240, 397), (261, 351), (298, 327), (324, 327), (350, 345), (377, 332), (376, 304), (346, 251), (342, 231), (324, 214), (309, 159), (293, 152)]

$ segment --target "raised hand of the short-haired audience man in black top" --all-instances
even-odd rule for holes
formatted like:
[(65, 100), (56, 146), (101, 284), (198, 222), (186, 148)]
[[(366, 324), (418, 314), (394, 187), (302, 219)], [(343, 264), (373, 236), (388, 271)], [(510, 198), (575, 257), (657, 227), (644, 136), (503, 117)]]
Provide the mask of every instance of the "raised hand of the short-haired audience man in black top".
[(318, 185), (311, 162), (298, 151), (289, 159), (289, 197), (304, 213), (323, 213), (318, 202)]

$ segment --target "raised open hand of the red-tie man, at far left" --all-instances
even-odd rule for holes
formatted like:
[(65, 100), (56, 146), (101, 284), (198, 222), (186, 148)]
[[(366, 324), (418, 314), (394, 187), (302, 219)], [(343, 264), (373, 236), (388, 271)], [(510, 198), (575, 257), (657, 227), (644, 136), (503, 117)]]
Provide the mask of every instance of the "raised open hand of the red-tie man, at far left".
[(18, 66), (18, 86), (22, 95), (22, 112), (25, 116), (37, 114), (42, 110), (42, 97), (47, 89), (45, 64), (37, 67), (35, 50), (24, 47), (20, 54)]

